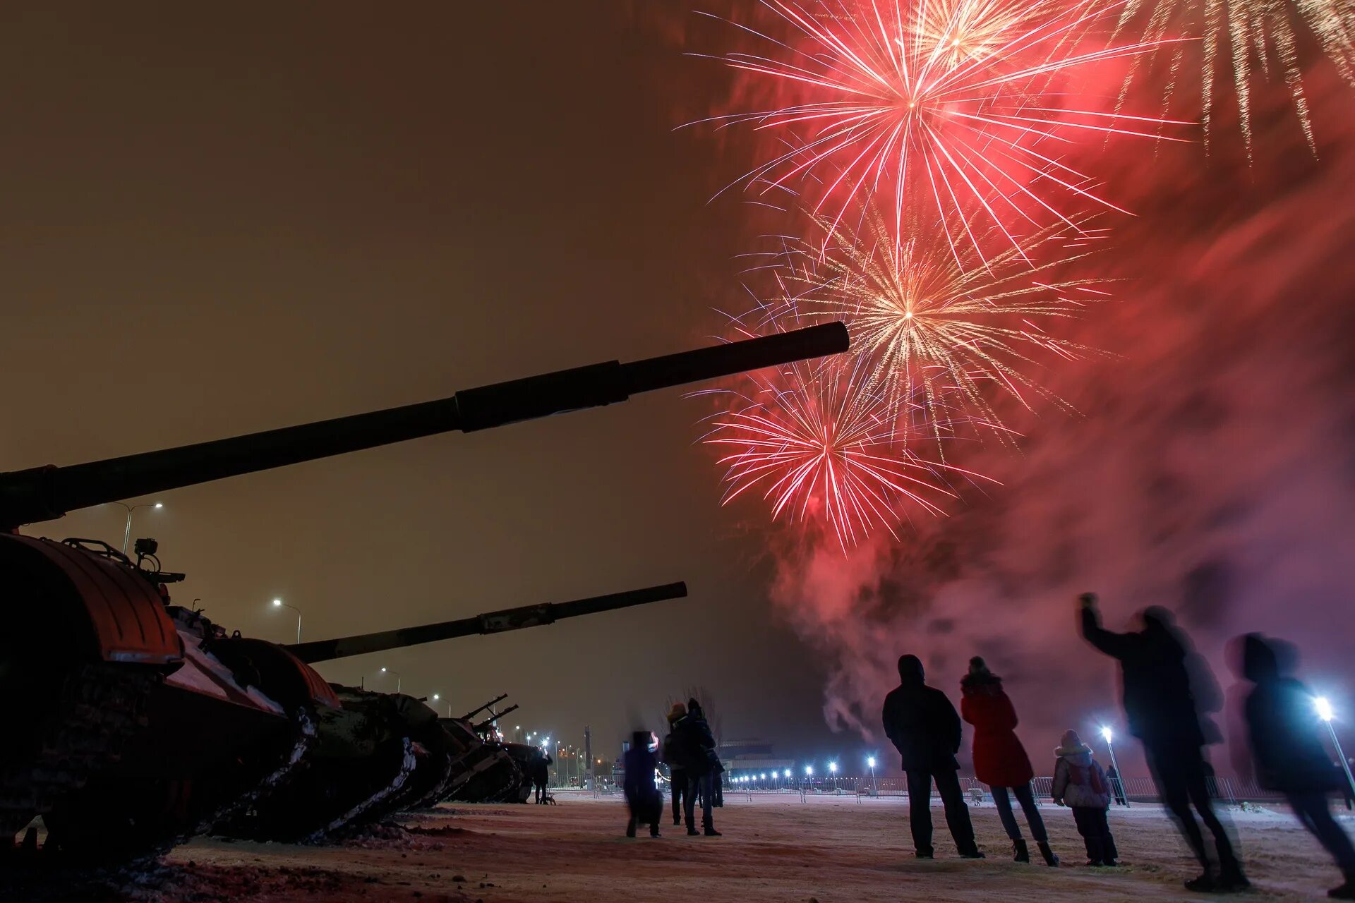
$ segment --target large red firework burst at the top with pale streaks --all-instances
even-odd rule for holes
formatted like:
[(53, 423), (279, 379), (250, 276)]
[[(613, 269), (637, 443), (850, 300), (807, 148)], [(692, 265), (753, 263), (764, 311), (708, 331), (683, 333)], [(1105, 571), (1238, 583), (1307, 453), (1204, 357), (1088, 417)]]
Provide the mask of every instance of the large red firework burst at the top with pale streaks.
[[(852, 203), (892, 187), (896, 234), (905, 199), (930, 195), (940, 218), (958, 217), (963, 233), (996, 225), (1024, 253), (1024, 234), (1050, 221), (1076, 226), (1046, 191), (1119, 210), (1092, 179), (1039, 149), (1072, 145), (1070, 135), (1098, 133), (1160, 137), (1171, 120), (1064, 108), (1056, 79), (1079, 66), (1146, 53), (1164, 38), (1085, 53), (1070, 45), (1107, 11), (1092, 0), (762, 0), (805, 47), (736, 27), (771, 42), (778, 56), (730, 53), (730, 66), (770, 76), (809, 95), (762, 112), (705, 122), (752, 123), (789, 135), (789, 150), (738, 181), (762, 191), (832, 171), (814, 213), (843, 190), (833, 225)], [(912, 12), (916, 12), (913, 15)], [(822, 99), (814, 99), (821, 96)], [(1153, 131), (1140, 131), (1142, 125)], [(1186, 125), (1186, 123), (1180, 123)], [(799, 138), (798, 129), (808, 130)], [(734, 183), (737, 184), (737, 181)], [(986, 223), (973, 222), (977, 211)]]

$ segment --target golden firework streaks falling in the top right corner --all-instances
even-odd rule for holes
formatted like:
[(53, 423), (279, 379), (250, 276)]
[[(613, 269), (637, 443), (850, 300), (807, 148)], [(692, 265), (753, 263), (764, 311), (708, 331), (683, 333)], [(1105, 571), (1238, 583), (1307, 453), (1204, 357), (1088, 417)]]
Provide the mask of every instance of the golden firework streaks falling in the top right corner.
[[(1126, 0), (1117, 31), (1142, 22), (1144, 41), (1160, 41), (1171, 31), (1195, 31), (1202, 38), (1201, 102), (1205, 139), (1209, 141), (1214, 112), (1214, 80), (1224, 66), (1233, 70), (1238, 125), (1247, 156), (1252, 154), (1251, 83), (1268, 74), (1271, 64), (1280, 72), (1294, 100), (1309, 150), (1317, 153), (1313, 125), (1304, 93), (1298, 42), (1310, 35), (1335, 64), (1341, 79), (1355, 85), (1355, 3), (1351, 0)], [(1184, 49), (1172, 53), (1171, 77), (1163, 92), (1165, 107), (1177, 89), (1176, 72), (1184, 62)], [(1130, 65), (1119, 102), (1125, 103), (1130, 84), (1142, 69), (1142, 60)]]

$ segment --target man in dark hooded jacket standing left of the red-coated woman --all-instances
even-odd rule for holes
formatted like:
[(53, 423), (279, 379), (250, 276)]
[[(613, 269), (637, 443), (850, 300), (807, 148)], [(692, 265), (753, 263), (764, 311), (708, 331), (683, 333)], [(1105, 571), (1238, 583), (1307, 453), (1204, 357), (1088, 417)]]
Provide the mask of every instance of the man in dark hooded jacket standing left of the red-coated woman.
[(946, 824), (959, 854), (982, 858), (957, 776), (955, 753), (963, 739), (959, 715), (944, 693), (927, 686), (921, 659), (916, 655), (898, 658), (898, 686), (885, 697), (881, 720), (908, 776), (908, 820), (917, 858), (930, 860), (936, 854), (932, 847), (932, 781), (946, 807)]

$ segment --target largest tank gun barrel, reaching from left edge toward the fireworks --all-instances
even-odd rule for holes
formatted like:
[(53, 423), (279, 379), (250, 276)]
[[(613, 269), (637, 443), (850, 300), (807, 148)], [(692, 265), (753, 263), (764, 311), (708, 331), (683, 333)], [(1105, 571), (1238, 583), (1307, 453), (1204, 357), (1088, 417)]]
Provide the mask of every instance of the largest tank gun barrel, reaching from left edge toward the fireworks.
[(451, 431), (474, 432), (630, 395), (847, 351), (847, 328), (806, 329), (631, 363), (610, 360), (458, 391), (450, 398), (122, 458), (0, 474), (0, 531), (69, 510), (344, 455)]

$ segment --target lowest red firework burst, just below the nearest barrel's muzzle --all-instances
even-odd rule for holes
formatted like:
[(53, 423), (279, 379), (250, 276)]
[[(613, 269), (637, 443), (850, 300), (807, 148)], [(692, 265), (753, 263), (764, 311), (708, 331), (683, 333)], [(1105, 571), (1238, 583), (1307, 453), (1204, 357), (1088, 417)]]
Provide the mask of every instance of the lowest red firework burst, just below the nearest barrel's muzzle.
[(947, 475), (988, 479), (900, 448), (893, 412), (859, 363), (797, 364), (751, 379), (752, 393), (732, 394), (737, 406), (717, 414), (702, 440), (729, 448), (720, 459), (722, 504), (762, 490), (774, 520), (821, 520), (847, 551), (877, 528), (897, 539), (904, 505), (944, 513), (928, 497), (954, 498)]

